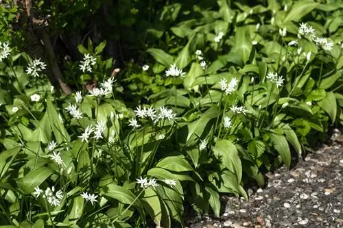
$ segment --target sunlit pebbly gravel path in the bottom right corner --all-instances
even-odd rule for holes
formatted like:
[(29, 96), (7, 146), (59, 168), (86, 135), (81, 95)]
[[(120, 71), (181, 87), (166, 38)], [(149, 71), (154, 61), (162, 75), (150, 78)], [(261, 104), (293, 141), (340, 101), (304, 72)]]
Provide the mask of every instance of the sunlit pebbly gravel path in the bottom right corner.
[(343, 227), (342, 139), (291, 170), (268, 173), (266, 188), (248, 189), (249, 201), (226, 197), (222, 218), (188, 220), (187, 227)]

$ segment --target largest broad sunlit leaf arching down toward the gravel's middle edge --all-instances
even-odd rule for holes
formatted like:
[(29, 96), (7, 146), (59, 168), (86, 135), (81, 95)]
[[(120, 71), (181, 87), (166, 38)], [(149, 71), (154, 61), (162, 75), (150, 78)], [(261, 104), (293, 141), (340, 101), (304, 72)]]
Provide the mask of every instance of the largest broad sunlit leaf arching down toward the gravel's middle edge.
[(215, 157), (217, 157), (217, 160), (222, 161), (223, 166), (235, 173), (237, 183), (241, 183), (241, 159), (239, 158), (235, 144), (228, 140), (219, 140), (215, 144), (215, 147), (212, 147), (212, 151)]

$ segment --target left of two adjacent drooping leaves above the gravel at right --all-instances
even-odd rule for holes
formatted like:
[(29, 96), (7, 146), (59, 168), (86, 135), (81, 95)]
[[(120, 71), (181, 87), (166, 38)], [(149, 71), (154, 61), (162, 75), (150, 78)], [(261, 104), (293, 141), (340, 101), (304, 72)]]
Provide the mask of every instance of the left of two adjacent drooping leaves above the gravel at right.
[(289, 166), (291, 165), (291, 151), (289, 150), (289, 145), (285, 136), (272, 133), (269, 134), (269, 136), (272, 144), (274, 145), (274, 148), (281, 155), (283, 163), (285, 163), (287, 168), (289, 168)]

